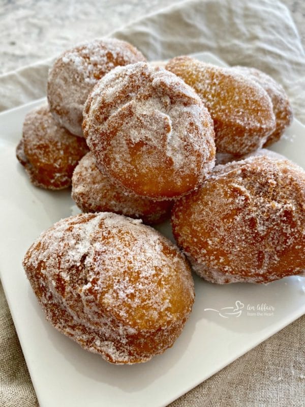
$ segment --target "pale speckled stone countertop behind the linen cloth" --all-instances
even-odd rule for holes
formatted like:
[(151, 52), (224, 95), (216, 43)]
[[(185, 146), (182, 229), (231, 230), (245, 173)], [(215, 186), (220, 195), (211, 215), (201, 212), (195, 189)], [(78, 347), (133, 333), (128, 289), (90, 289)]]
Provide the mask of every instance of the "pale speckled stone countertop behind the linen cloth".
[[(305, 2), (282, 0), (305, 44)], [(0, 74), (103, 36), (176, 0), (0, 0)]]

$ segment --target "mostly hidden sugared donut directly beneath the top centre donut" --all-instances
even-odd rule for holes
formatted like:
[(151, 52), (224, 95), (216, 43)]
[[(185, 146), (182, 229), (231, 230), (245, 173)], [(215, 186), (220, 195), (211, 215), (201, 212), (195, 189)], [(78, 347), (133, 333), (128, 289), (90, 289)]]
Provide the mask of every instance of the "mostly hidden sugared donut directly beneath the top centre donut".
[(72, 198), (83, 212), (114, 212), (142, 219), (146, 224), (170, 217), (172, 202), (126, 195), (112, 185), (97, 168), (91, 153), (76, 166), (72, 177)]

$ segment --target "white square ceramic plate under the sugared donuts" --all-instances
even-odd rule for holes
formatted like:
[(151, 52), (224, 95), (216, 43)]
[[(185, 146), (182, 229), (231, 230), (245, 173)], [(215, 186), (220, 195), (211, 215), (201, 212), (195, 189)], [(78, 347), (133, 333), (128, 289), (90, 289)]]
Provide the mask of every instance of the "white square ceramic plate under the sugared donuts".
[[(42, 102), (0, 114), (0, 276), (41, 407), (164, 406), (305, 313), (305, 278), (221, 286), (195, 276), (196, 301), (184, 331), (147, 363), (111, 365), (53, 329), (21, 260), (43, 230), (72, 214), (73, 201), (70, 190), (32, 186), (15, 157), (24, 115)], [(273, 150), (305, 167), (304, 137), (305, 127), (294, 120)], [(159, 229), (169, 234), (168, 225)]]

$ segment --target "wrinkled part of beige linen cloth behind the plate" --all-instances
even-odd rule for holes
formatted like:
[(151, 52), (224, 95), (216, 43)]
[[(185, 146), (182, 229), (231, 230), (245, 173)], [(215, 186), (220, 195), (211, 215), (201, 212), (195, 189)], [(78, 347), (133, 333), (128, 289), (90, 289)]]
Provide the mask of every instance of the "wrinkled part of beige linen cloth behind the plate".
[[(286, 89), (305, 122), (305, 53), (289, 10), (277, 0), (191, 0), (137, 20), (111, 36), (149, 61), (208, 51), (228, 65), (252, 66)], [(0, 76), (0, 111), (45, 96), (48, 59)]]

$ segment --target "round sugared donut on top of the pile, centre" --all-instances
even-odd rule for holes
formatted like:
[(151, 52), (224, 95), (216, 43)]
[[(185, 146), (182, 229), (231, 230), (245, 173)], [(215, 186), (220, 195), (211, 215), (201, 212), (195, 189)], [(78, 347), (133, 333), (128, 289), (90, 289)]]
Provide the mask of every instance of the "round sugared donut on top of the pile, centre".
[(98, 168), (127, 193), (156, 200), (180, 196), (215, 165), (207, 109), (165, 69), (143, 62), (113, 69), (95, 86), (83, 114)]

